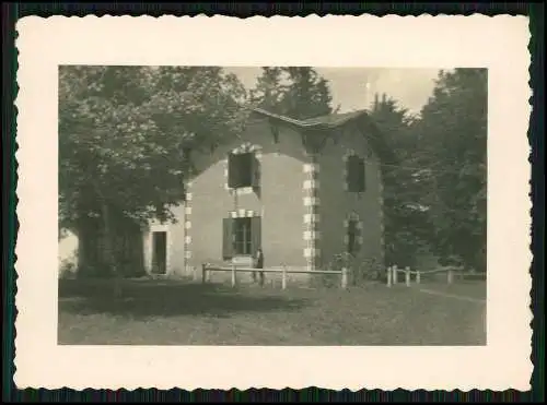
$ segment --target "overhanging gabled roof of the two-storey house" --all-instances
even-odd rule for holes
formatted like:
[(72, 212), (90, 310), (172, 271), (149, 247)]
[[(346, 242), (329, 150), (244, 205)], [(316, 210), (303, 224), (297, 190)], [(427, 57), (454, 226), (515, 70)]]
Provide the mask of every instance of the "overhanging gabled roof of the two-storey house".
[(383, 160), (394, 162), (395, 155), (386, 145), (383, 132), (376, 127), (366, 110), (358, 110), (345, 114), (329, 114), (316, 118), (298, 120), (286, 116), (280, 116), (261, 108), (253, 108), (252, 112), (268, 117), (270, 119), (290, 124), (305, 130), (331, 130), (344, 127), (352, 121), (360, 120), (365, 124), (366, 139)]

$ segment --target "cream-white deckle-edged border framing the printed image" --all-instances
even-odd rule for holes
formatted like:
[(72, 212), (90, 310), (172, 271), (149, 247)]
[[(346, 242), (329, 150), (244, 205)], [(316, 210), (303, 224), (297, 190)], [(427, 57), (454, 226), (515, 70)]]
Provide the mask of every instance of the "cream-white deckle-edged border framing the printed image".
[[(528, 390), (527, 25), (523, 16), (478, 14), (22, 19), (16, 26), (18, 388)], [(487, 346), (58, 346), (57, 69), (66, 63), (487, 67)]]

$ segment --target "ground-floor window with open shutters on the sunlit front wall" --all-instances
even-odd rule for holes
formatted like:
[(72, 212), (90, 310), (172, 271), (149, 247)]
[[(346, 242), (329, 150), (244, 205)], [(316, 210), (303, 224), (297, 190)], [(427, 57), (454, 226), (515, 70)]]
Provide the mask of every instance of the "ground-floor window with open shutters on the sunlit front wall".
[(223, 219), (224, 260), (235, 255), (254, 255), (260, 246), (260, 217), (240, 217)]

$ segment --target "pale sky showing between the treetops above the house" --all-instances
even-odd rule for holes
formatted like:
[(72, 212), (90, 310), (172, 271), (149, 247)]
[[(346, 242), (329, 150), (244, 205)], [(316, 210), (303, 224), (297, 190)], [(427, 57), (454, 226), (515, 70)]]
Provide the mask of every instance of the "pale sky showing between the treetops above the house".
[[(260, 75), (258, 67), (224, 68), (236, 74), (242, 83), (252, 88)], [(438, 69), (389, 69), (389, 68), (315, 68), (328, 80), (333, 94), (333, 106), (340, 105), (340, 112), (368, 108), (374, 93), (385, 93), (396, 99), (400, 107), (418, 114), (431, 96)]]

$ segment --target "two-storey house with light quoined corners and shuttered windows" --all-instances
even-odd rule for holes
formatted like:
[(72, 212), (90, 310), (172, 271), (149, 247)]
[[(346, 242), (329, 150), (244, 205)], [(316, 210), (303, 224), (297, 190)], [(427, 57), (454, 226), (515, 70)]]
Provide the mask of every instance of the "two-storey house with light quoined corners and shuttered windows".
[(148, 272), (202, 263), (317, 270), (341, 252), (383, 263), (382, 136), (365, 111), (294, 120), (254, 109), (244, 132), (191, 156), (176, 224), (144, 235)]

